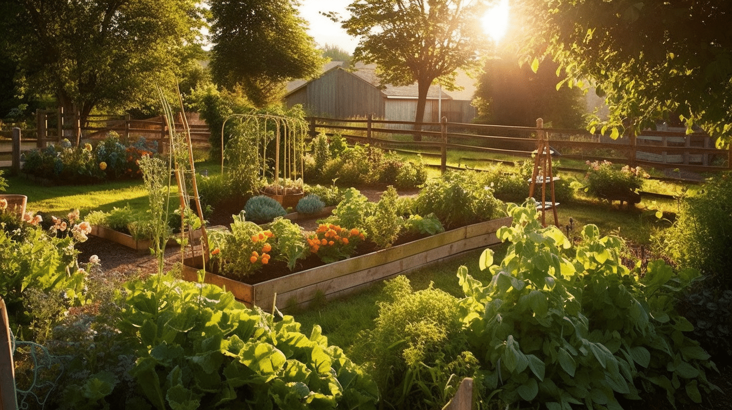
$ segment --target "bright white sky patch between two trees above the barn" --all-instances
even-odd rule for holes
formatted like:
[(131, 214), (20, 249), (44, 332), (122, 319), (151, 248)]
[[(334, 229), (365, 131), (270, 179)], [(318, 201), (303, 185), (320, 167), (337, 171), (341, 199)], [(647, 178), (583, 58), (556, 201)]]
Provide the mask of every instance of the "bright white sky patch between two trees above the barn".
[(318, 12), (339, 12), (341, 19), (346, 18), (346, 6), (354, 0), (301, 0), (300, 17), (309, 21), (307, 34), (318, 43), (318, 47), (326, 44), (337, 45), (348, 53), (354, 53), (358, 41), (346, 34), (340, 24), (319, 15)]

